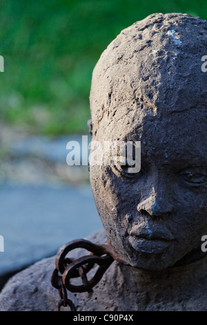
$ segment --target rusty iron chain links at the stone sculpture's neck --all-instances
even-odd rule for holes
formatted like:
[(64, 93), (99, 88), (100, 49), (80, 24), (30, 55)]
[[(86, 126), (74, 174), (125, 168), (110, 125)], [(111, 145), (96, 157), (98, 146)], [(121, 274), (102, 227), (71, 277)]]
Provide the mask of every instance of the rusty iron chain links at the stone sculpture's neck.
[[(68, 258), (67, 254), (76, 248), (84, 248), (90, 252), (89, 255), (79, 259)], [(67, 289), (72, 293), (92, 292), (92, 288), (101, 280), (103, 274), (113, 261), (126, 262), (115, 252), (114, 248), (107, 243), (97, 245), (86, 239), (75, 239), (61, 246), (55, 259), (55, 270), (52, 273), (51, 284), (59, 291), (59, 303), (57, 310), (61, 306), (69, 306), (70, 310), (76, 311), (73, 302), (68, 299)], [(92, 279), (88, 280), (87, 274), (97, 264), (98, 269)], [(82, 284), (76, 286), (71, 284), (71, 279), (81, 278)]]

